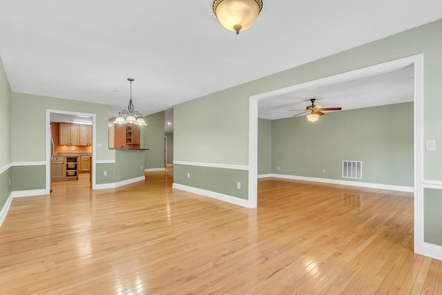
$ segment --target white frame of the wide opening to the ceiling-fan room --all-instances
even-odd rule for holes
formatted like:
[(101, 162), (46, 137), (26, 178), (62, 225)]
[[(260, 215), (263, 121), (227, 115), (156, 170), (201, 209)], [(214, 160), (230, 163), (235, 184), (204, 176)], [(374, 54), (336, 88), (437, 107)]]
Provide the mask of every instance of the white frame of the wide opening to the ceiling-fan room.
[(258, 102), (292, 91), (360, 79), (398, 70), (405, 66), (414, 66), (414, 252), (423, 255), (425, 252), (427, 256), (430, 256), (428, 255), (430, 249), (424, 242), (423, 236), (423, 146), (425, 146), (423, 138), (423, 53), (249, 97), (248, 207), (256, 208), (258, 206)]

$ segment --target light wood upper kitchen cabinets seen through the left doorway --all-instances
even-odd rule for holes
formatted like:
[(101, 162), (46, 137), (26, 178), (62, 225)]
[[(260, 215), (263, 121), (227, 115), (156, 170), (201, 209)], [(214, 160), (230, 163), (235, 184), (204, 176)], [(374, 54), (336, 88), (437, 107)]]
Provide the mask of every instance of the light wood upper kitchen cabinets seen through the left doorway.
[(60, 123), (59, 144), (68, 146), (92, 145), (92, 126), (83, 124)]

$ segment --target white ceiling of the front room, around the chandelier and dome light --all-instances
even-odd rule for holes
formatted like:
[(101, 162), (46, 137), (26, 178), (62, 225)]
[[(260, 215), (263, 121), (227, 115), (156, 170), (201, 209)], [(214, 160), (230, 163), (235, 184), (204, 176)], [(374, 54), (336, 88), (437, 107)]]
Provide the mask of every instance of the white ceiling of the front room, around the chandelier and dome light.
[(440, 0), (264, 0), (236, 35), (212, 3), (0, 0), (0, 57), (12, 91), (106, 104), (110, 115), (127, 108), (133, 77), (135, 110), (149, 115), (442, 19)]

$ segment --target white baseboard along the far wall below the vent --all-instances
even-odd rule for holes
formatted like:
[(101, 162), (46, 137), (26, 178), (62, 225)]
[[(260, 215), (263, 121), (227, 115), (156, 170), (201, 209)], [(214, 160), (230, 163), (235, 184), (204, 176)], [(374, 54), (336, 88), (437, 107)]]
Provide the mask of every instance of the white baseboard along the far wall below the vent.
[(275, 173), (258, 175), (258, 178), (265, 178), (265, 177), (322, 182), (329, 184), (340, 184), (340, 185), (348, 185), (351, 187), (367, 187), (369, 189), (387, 189), (389, 191), (405, 191), (407, 193), (414, 192), (414, 187), (403, 187), (401, 185), (390, 185), (390, 184), (380, 184), (380, 183), (371, 183), (371, 182), (356, 182), (348, 180), (334, 180), (328, 178), (310, 178), (305, 176), (284, 175), (284, 174), (275, 174)]

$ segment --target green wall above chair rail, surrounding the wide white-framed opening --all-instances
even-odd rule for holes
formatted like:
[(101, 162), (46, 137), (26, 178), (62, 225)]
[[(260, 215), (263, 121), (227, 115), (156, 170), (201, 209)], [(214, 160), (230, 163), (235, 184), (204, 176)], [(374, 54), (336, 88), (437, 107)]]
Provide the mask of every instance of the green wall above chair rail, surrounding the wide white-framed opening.
[[(249, 164), (250, 96), (420, 53), (424, 54), (424, 137), (436, 140), (436, 144), (442, 142), (440, 132), (442, 117), (439, 115), (439, 110), (442, 108), (441, 32), (442, 20), (434, 21), (425, 26), (177, 105), (174, 108), (174, 160), (247, 165)], [(441, 162), (442, 149), (425, 152), (424, 178), (442, 181)], [(227, 182), (225, 184), (228, 185)], [(193, 185), (202, 187), (204, 184), (195, 182)], [(426, 199), (426, 196), (424, 198)], [(424, 213), (430, 214), (426, 217), (432, 220), (432, 211)], [(442, 236), (442, 227), (439, 225), (437, 227), (438, 234)]]

